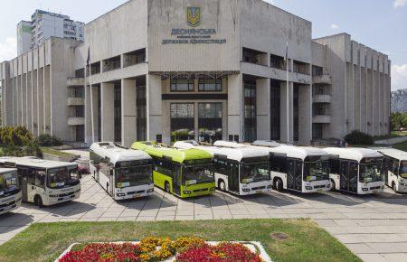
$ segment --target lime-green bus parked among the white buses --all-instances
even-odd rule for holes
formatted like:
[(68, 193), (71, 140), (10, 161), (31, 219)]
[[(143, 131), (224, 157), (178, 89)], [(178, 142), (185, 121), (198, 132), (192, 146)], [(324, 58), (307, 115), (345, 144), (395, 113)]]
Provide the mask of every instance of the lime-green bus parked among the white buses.
[(180, 198), (214, 192), (212, 154), (199, 149), (177, 150), (155, 142), (135, 142), (131, 148), (153, 158), (153, 182), (166, 192)]

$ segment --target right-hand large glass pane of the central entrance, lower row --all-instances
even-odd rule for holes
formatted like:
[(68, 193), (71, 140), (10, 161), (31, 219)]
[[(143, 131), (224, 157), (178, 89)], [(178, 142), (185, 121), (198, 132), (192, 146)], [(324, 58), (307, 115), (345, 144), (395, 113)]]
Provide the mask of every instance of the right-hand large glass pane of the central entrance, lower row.
[(202, 142), (222, 140), (222, 103), (198, 104), (198, 130)]

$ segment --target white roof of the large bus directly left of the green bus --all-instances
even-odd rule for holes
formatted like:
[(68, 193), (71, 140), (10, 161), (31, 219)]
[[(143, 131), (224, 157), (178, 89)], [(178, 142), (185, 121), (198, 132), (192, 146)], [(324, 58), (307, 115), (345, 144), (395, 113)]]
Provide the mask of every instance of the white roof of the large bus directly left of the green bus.
[(99, 156), (103, 158), (109, 157), (111, 164), (116, 164), (118, 162), (151, 159), (151, 156), (149, 156), (144, 151), (119, 147), (113, 142), (93, 143), (92, 145), (90, 145), (90, 151), (94, 152), (95, 154), (99, 154)]

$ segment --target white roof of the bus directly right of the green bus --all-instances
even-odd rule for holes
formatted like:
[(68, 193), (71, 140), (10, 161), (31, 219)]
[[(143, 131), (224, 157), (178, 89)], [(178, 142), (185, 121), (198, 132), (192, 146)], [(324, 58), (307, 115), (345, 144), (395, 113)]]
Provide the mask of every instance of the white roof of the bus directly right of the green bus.
[[(233, 143), (233, 142), (232, 142)], [(215, 142), (216, 144), (216, 142)], [(236, 143), (237, 144), (237, 143)], [(241, 144), (238, 144), (241, 145)], [(226, 155), (228, 159), (236, 160), (241, 162), (244, 158), (252, 158), (252, 157), (261, 157), (261, 156), (269, 156), (269, 153), (261, 150), (260, 148), (256, 148), (254, 146), (237, 146), (237, 147), (218, 147), (218, 146), (206, 146), (206, 145), (199, 145), (195, 141), (180, 141), (175, 142), (174, 147), (187, 149), (187, 148), (196, 148), (201, 149), (209, 154), (222, 154)]]

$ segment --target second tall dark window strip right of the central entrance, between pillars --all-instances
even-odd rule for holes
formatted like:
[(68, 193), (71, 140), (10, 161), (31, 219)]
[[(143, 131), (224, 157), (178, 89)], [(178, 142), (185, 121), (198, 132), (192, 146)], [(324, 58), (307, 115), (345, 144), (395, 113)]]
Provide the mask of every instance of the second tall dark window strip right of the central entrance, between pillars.
[(270, 138), (280, 139), (280, 89), (279, 81), (271, 80), (270, 89)]

